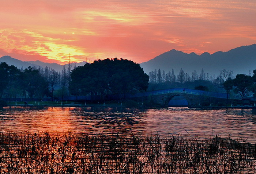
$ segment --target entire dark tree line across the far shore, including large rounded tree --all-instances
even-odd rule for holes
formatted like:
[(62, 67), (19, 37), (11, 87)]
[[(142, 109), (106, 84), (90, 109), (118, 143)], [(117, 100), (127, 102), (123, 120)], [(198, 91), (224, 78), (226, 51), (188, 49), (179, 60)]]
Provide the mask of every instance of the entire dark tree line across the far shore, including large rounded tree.
[(256, 70), (253, 75), (237, 74), (232, 70), (221, 70), (210, 76), (202, 69), (200, 74), (185, 73), (182, 68), (176, 76), (174, 70), (165, 73), (160, 69), (144, 73), (138, 63), (127, 59), (104, 59), (74, 67), (54, 69), (27, 67), (19, 70), (13, 65), (0, 64), (0, 97), (3, 98), (60, 98), (74, 95), (100, 95), (103, 100), (108, 94), (117, 94), (120, 100), (125, 93), (136, 93), (167, 88), (191, 88), (226, 92), (227, 97), (236, 93), (244, 98), (248, 92), (255, 96)]

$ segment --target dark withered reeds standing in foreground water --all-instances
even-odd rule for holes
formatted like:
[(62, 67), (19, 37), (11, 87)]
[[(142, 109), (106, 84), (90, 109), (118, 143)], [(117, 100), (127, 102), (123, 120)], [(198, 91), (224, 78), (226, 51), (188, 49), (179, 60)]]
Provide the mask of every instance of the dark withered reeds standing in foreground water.
[(219, 136), (1, 130), (0, 173), (256, 173), (256, 144)]

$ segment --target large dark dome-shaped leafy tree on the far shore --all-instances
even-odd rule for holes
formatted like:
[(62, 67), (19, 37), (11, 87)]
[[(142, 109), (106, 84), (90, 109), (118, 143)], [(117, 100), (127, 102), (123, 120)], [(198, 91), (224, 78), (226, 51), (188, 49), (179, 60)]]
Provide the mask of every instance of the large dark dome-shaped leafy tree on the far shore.
[(138, 63), (127, 59), (104, 59), (76, 67), (69, 90), (74, 95), (119, 94), (146, 91), (149, 76)]

